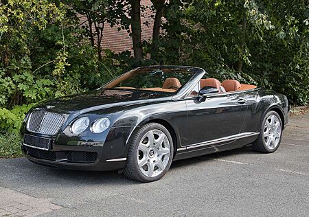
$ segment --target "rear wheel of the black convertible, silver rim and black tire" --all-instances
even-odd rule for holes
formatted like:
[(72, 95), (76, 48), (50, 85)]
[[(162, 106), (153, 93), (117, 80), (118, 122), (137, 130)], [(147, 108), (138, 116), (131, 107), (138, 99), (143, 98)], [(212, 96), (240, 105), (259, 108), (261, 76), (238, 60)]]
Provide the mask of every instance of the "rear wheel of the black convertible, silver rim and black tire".
[(272, 153), (279, 148), (282, 139), (282, 120), (278, 113), (269, 111), (260, 126), (260, 135), (253, 142), (253, 150)]

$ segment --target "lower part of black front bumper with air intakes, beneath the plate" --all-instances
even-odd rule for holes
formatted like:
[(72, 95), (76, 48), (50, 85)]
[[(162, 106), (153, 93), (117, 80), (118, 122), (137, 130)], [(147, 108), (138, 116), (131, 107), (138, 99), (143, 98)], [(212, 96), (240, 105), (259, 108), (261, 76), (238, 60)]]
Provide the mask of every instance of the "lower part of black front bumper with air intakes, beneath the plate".
[(34, 163), (68, 170), (122, 170), (126, 158), (108, 159), (104, 147), (56, 146), (56, 150), (40, 150), (21, 144), (25, 157)]

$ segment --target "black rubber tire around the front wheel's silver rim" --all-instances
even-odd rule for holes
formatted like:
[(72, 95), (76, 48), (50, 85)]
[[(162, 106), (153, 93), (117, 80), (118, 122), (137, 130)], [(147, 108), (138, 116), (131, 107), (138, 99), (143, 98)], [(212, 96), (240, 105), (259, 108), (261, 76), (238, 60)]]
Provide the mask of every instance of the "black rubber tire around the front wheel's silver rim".
[[(146, 124), (147, 125), (147, 124)], [(137, 161), (137, 150), (139, 147), (139, 142), (141, 141), (141, 138), (145, 135), (145, 133), (147, 133), (150, 130), (161, 130), (163, 133), (165, 133), (165, 135), (168, 137), (168, 141), (170, 142), (170, 159), (168, 161), (168, 164), (165, 167), (165, 170), (163, 172), (161, 172), (161, 174), (159, 174), (158, 176), (155, 177), (148, 177), (145, 176), (141, 170), (139, 170), (139, 165), (138, 165), (138, 161)], [(133, 163), (135, 165), (135, 167), (137, 168), (137, 174), (138, 176), (144, 180), (145, 182), (151, 182), (151, 181), (157, 181), (159, 179), (161, 179), (166, 172), (168, 172), (168, 170), (170, 169), (170, 165), (172, 163), (172, 159), (173, 159), (173, 155), (174, 155), (174, 144), (172, 141), (172, 136), (170, 135), (170, 132), (168, 132), (168, 130), (162, 126), (161, 124), (157, 124), (157, 123), (150, 123), (149, 126), (147, 126), (144, 129), (138, 130), (137, 131), (137, 139), (135, 139), (135, 144), (131, 144), (131, 146), (133, 146), (133, 152), (134, 152), (134, 158), (133, 158)]]

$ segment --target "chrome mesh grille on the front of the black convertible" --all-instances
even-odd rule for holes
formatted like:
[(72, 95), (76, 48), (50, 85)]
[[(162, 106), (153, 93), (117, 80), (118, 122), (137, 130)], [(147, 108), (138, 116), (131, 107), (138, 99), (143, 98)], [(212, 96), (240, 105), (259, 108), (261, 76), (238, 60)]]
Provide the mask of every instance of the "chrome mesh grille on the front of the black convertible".
[(34, 111), (27, 122), (27, 130), (34, 133), (55, 135), (65, 122), (65, 115), (49, 111)]

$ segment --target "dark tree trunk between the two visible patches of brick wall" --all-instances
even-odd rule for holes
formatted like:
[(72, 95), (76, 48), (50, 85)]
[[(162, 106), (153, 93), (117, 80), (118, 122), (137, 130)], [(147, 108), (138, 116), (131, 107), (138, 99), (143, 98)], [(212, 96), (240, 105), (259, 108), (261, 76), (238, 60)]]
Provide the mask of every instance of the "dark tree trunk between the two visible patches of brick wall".
[(141, 43), (141, 0), (131, 0), (131, 29), (134, 58), (143, 60), (143, 45)]

